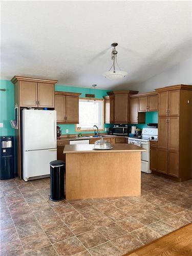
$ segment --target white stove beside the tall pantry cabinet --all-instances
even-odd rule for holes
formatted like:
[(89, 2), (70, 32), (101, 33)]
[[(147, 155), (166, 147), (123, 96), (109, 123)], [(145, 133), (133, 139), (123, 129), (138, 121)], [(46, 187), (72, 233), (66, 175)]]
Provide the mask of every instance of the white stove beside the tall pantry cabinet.
[(131, 138), (129, 137), (128, 143), (135, 144), (137, 146), (143, 147), (146, 151), (141, 152), (141, 172), (150, 174), (152, 171), (150, 169), (150, 140), (158, 139), (158, 129), (157, 128), (143, 128), (142, 138)]

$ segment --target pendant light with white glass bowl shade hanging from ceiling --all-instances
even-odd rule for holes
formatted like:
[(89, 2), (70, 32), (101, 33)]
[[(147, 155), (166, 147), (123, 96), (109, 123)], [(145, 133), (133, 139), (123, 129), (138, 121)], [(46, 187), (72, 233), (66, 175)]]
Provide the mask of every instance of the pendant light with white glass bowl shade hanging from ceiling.
[[(115, 48), (116, 46), (118, 46), (117, 42), (113, 42), (113, 44), (111, 46), (113, 47), (112, 53), (111, 53), (111, 59), (113, 61), (113, 64), (109, 71), (103, 73), (103, 76), (110, 80), (117, 80), (117, 79), (121, 79), (121, 78), (125, 77), (127, 72), (122, 71), (119, 68), (119, 65), (117, 63), (117, 50)], [(119, 68), (119, 70), (116, 70), (116, 66)]]

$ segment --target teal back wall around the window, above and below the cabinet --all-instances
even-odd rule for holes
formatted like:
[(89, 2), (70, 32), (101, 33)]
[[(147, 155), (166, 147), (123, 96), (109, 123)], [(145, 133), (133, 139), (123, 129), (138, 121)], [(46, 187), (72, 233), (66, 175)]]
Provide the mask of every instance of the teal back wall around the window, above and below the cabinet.
[[(95, 98), (102, 99), (103, 96), (108, 95), (107, 92), (109, 90), (99, 90), (99, 89), (90, 89), (90, 88), (82, 88), (82, 87), (71, 87), (71, 86), (55, 86), (55, 91), (59, 92), (73, 92), (73, 93), (81, 93), (80, 98), (86, 97), (86, 94), (95, 94)], [(61, 128), (61, 134), (66, 134), (66, 129), (69, 129), (69, 134), (77, 134), (79, 132), (75, 132), (75, 124), (58, 124)], [(104, 128), (111, 127), (112, 124), (104, 124)], [(104, 133), (105, 131), (101, 131)], [(91, 132), (83, 132), (83, 133), (91, 133)]]

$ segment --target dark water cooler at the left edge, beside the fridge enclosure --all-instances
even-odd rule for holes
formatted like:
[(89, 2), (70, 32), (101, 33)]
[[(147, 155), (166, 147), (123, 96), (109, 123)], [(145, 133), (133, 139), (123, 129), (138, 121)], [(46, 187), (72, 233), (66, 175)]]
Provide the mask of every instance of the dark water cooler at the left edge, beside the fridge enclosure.
[(14, 178), (14, 146), (13, 136), (2, 136), (1, 138), (1, 180)]

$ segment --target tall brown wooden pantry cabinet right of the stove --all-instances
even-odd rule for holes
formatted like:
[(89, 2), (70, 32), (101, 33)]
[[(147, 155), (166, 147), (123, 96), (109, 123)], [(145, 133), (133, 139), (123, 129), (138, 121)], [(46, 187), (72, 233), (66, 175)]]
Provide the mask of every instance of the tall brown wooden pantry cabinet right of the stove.
[(158, 92), (158, 172), (179, 181), (192, 178), (192, 86)]

